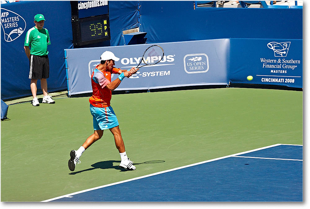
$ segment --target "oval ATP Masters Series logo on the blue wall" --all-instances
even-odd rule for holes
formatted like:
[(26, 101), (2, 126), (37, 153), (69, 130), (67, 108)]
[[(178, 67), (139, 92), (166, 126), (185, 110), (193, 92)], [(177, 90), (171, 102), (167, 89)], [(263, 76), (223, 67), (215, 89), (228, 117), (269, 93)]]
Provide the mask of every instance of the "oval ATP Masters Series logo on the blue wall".
[(24, 33), (26, 29), (26, 21), (19, 14), (1, 8), (1, 26), (3, 29), (4, 40), (11, 42)]

